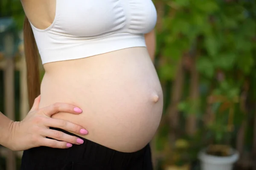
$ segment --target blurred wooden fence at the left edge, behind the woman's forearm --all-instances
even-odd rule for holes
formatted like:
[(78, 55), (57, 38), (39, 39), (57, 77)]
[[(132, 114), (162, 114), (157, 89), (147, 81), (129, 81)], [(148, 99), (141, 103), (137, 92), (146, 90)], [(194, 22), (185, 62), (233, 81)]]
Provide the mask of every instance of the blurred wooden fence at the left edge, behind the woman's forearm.
[[(19, 47), (17, 58), (6, 59), (0, 55), (0, 70), (4, 72), (4, 108), (3, 113), (15, 120), (15, 71), (20, 73), (20, 119), (24, 119), (29, 111), (27, 85), (26, 85), (26, 61), (23, 53), (23, 44)], [(16, 170), (16, 156), (21, 157), (22, 151), (14, 152), (5, 147), (0, 147), (0, 156), (6, 157), (6, 170)]]

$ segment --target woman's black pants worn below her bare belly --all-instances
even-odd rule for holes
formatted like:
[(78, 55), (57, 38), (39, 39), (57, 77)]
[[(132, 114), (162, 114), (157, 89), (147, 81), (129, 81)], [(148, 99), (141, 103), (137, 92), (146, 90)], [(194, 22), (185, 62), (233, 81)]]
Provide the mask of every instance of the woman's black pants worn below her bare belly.
[[(65, 130), (61, 131), (74, 135)], [(81, 138), (80, 136), (78, 137)], [(21, 170), (153, 169), (149, 144), (137, 152), (124, 153), (102, 146), (87, 139), (83, 140), (83, 144), (73, 144), (73, 146), (68, 149), (35, 147), (25, 150), (22, 156)]]

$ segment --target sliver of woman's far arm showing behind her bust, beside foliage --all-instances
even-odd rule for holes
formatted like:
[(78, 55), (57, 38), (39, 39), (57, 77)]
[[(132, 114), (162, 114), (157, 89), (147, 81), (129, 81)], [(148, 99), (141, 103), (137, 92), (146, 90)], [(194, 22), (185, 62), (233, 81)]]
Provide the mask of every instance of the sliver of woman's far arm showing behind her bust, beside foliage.
[(156, 51), (156, 37), (154, 29), (151, 32), (145, 34), (145, 41), (148, 49), (148, 54), (151, 60), (154, 62), (154, 55)]

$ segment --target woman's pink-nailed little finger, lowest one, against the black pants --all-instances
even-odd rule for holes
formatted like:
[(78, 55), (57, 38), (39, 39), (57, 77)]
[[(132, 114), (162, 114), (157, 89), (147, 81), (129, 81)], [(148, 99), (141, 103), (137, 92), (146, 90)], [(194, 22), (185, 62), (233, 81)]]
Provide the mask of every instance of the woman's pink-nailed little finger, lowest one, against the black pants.
[(57, 140), (48, 139), (48, 138), (41, 139), (40, 145), (47, 146), (47, 147), (53, 147), (53, 148), (61, 148), (61, 149), (66, 149), (66, 148), (72, 147), (71, 143), (57, 141)]

